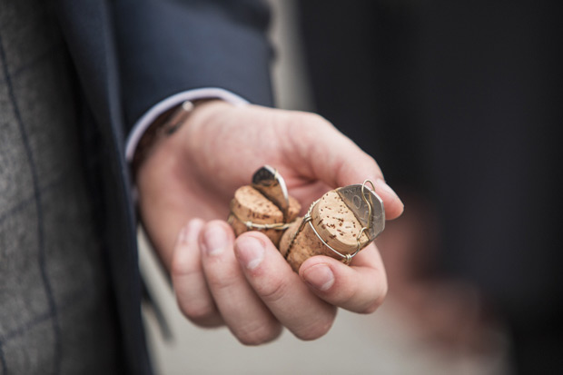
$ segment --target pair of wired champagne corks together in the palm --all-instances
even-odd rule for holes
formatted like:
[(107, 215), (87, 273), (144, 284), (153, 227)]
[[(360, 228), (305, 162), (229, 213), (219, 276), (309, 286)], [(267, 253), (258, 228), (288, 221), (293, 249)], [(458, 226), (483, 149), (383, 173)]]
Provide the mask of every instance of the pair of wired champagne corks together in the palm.
[(385, 227), (383, 202), (369, 180), (326, 192), (302, 218), (297, 217), (300, 210), (282, 176), (264, 166), (254, 174), (252, 186), (235, 192), (229, 222), (237, 236), (264, 232), (294, 271), (314, 255), (348, 264)]

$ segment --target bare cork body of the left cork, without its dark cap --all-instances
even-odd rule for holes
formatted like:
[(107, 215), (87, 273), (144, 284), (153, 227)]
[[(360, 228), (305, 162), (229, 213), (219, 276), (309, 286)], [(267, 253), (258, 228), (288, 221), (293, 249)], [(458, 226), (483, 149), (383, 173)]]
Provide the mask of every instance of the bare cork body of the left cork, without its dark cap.
[[(301, 204), (293, 197), (289, 197), (290, 209), (288, 212), (288, 222), (294, 221), (300, 210)], [(276, 224), (283, 223), (283, 212), (268, 198), (262, 195), (250, 185), (242, 186), (234, 192), (231, 202), (231, 210), (234, 215), (230, 222), (236, 236), (243, 232), (259, 231), (264, 233), (273, 244), (278, 247), (284, 231), (277, 229), (252, 229), (248, 228), (244, 222), (254, 224)]]

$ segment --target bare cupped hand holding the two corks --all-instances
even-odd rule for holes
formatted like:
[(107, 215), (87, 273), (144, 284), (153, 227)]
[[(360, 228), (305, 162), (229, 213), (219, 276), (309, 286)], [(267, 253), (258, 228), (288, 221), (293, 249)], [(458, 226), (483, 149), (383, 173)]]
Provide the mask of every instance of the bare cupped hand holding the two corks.
[(312, 113), (221, 101), (200, 104), (153, 146), (136, 174), (143, 226), (170, 271), (178, 305), (203, 327), (226, 325), (244, 344), (302, 340), (330, 330), (337, 307), (369, 313), (387, 292), (374, 244), (346, 266), (317, 256), (299, 274), (260, 232), (234, 238), (224, 222), (233, 192), (263, 164), (278, 169), (306, 210), (338, 186), (375, 182), (388, 219), (403, 210), (375, 161)]

